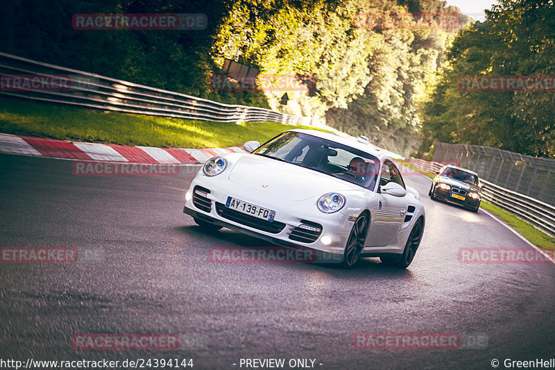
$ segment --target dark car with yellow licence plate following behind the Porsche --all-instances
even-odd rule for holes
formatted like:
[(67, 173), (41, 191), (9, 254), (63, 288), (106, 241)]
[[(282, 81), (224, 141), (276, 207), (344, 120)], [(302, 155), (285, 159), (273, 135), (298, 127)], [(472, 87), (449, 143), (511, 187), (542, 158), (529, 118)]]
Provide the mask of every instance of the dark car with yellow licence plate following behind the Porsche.
[(478, 212), (481, 189), (478, 174), (468, 169), (446, 165), (436, 172), (429, 197), (437, 201), (456, 203)]

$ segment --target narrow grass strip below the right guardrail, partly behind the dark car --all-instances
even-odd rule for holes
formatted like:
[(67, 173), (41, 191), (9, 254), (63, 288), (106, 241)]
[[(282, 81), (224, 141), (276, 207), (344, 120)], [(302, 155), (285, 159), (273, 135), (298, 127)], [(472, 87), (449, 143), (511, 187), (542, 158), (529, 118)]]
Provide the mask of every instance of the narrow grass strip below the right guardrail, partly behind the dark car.
[[(416, 169), (416, 171), (420, 172), (421, 174), (425, 174), (429, 178), (434, 178), (436, 176), (430, 171), (422, 171), (421, 169), (416, 168), (409, 162), (404, 162), (402, 160), (398, 160), (398, 162), (400, 162), (404, 166), (411, 167), (411, 169)], [(550, 237), (546, 233), (543, 233), (541, 230), (533, 227), (533, 225), (530, 224), (528, 221), (519, 219), (512, 213), (507, 212), (506, 210), (502, 210), (501, 208), (497, 207), (497, 205), (493, 205), (486, 201), (481, 201), (480, 208), (490, 212), (492, 215), (495, 215), (499, 219), (502, 219), (506, 224), (515, 229), (517, 233), (525, 237), (533, 245), (550, 251), (555, 251), (555, 237)]]

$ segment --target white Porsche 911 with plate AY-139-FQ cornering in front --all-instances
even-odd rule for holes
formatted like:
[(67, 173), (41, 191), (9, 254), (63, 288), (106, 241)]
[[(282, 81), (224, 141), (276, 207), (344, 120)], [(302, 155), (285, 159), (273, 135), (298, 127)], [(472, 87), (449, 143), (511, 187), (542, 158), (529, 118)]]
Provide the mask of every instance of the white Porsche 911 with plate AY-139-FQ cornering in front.
[(318, 261), (345, 267), (359, 257), (411, 264), (425, 212), (391, 158), (313, 130), (285, 131), (244, 149), (252, 153), (217, 156), (198, 171), (183, 212), (199, 226), (310, 248)]

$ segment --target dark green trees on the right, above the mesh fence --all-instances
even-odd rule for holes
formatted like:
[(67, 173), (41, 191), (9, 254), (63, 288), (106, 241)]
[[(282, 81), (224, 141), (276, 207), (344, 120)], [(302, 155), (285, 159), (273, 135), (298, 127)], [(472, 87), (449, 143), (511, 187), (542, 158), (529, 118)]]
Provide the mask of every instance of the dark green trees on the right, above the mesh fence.
[(463, 91), (461, 76), (554, 76), (552, 1), (501, 0), (454, 40), (449, 67), (423, 110), (426, 153), (434, 141), (555, 157), (554, 92)]

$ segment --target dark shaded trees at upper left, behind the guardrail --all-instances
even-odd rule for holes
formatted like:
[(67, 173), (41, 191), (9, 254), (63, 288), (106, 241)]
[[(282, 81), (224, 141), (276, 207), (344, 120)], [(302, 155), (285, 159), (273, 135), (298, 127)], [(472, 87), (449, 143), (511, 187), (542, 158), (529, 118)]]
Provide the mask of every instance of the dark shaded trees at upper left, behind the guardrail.
[[(80, 13), (204, 13), (200, 31), (76, 30)], [(209, 51), (225, 13), (221, 0), (4, 0), (0, 12), (0, 51), (210, 97), (216, 68)]]

